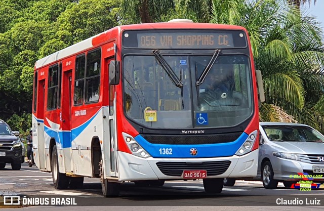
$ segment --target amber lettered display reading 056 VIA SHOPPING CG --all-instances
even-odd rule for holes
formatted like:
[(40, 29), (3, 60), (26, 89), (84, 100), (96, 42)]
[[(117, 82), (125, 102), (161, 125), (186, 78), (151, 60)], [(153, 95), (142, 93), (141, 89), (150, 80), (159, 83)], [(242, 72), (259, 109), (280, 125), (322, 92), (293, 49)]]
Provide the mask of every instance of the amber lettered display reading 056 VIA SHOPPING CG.
[(230, 33), (139, 33), (138, 48), (233, 48)]

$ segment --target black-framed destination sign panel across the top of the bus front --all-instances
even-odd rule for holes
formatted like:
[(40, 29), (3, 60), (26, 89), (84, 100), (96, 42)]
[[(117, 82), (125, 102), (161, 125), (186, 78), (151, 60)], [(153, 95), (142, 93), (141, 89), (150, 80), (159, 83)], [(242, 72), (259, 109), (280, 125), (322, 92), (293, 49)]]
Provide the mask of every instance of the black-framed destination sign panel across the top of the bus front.
[(123, 46), (140, 49), (246, 48), (241, 30), (147, 30), (125, 31)]

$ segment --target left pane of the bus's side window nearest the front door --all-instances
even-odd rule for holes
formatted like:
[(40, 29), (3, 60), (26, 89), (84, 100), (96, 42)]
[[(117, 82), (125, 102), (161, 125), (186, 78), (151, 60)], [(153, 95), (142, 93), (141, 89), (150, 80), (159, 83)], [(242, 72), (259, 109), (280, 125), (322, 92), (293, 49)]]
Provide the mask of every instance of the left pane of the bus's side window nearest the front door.
[(76, 58), (75, 61), (75, 74), (74, 74), (74, 105), (83, 104), (83, 90), (85, 84), (85, 65), (86, 55)]

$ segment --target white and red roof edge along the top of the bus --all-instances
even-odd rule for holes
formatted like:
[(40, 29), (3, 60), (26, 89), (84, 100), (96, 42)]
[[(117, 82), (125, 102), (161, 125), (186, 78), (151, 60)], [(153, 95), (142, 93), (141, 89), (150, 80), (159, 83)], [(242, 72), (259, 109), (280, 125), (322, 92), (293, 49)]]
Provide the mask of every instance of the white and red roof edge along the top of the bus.
[[(83, 52), (87, 49), (91, 49), (95, 46), (104, 43), (109, 40), (110, 36), (105, 36), (105, 34), (110, 33), (114, 30), (118, 30), (119, 32), (124, 30), (143, 30), (143, 29), (232, 29), (232, 30), (245, 30), (244, 27), (234, 26), (234, 25), (225, 25), (225, 24), (211, 24), (211, 23), (184, 23), (184, 22), (176, 22), (176, 23), (142, 23), (142, 24), (132, 24), (132, 25), (123, 25), (116, 26), (107, 31), (104, 31), (100, 34), (94, 35), (88, 39), (80, 41), (77, 44), (69, 46), (65, 49), (62, 49), (58, 52), (55, 52), (47, 57), (39, 59), (35, 63), (35, 69), (44, 67), (53, 62), (59, 61), (63, 58), (69, 57), (71, 55), (77, 54), (79, 52)], [(103, 37), (105, 37), (103, 39)], [(98, 40), (100, 39), (100, 40)]]

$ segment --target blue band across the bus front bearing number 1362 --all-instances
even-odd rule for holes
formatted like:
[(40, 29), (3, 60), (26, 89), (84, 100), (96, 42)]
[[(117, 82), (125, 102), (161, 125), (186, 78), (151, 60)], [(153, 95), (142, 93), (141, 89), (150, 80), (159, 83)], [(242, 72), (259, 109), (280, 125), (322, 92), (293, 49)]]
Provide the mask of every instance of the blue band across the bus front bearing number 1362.
[[(136, 136), (135, 140), (155, 158), (201, 158), (233, 156), (247, 138), (248, 134), (242, 133), (242, 135), (240, 135), (240, 137), (238, 137), (234, 142), (190, 145), (151, 144), (141, 135)], [(195, 156), (190, 154), (191, 148), (197, 149), (198, 153)], [(163, 149), (172, 149), (172, 154), (163, 154)], [(168, 151), (170, 152), (170, 150)]]

